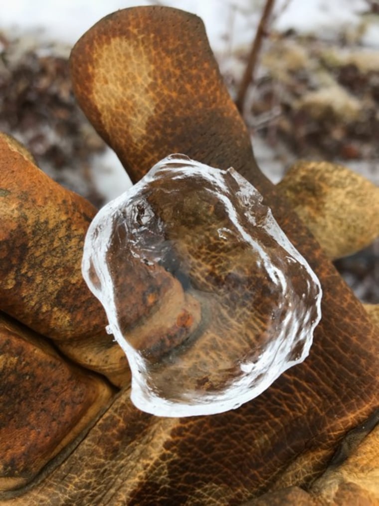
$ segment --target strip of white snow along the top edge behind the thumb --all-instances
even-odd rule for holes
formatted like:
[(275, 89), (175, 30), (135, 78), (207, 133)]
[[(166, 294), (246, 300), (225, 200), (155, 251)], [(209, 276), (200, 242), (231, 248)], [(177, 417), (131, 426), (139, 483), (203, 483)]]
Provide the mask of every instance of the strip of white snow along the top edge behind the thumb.
[[(151, 5), (154, 2), (139, 0), (7, 0), (0, 1), (2, 28), (42, 29), (46, 36), (62, 40), (70, 45), (90, 26), (107, 14), (126, 7)], [(166, 0), (161, 5), (193, 12), (206, 26), (211, 46), (225, 51), (249, 44), (254, 36), (263, 0)], [(349, 24), (356, 26), (356, 13), (367, 9), (364, 0), (277, 0), (274, 27), (279, 30), (295, 28), (298, 31), (334, 30)], [(232, 41), (227, 35), (232, 28)], [(378, 28), (372, 28), (379, 42)]]

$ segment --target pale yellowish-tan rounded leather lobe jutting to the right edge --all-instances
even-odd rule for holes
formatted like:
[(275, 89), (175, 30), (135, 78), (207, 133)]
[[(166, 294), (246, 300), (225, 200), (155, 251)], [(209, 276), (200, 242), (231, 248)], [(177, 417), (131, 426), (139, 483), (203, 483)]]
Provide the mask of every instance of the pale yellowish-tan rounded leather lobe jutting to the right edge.
[(298, 161), (277, 188), (331, 259), (352, 255), (379, 235), (379, 188), (343, 165)]

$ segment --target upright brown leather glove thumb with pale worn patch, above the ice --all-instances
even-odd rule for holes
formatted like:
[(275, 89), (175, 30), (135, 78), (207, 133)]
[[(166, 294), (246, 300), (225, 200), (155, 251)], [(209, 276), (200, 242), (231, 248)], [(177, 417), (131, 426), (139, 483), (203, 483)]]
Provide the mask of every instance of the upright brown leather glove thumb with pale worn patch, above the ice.
[(70, 60), (80, 107), (133, 182), (170, 153), (222, 168), (251, 159), (197, 16), (164, 7), (115, 12), (78, 40)]

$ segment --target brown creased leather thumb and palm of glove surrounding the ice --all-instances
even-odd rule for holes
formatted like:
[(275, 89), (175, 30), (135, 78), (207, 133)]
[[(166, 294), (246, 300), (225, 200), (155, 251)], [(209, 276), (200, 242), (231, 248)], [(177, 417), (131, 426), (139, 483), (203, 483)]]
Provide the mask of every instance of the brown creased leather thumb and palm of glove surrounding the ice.
[(181, 151), (233, 165), (255, 184), (319, 276), (323, 317), (309, 358), (238, 410), (157, 418), (137, 411), (124, 390), (61, 466), (3, 503), (238, 504), (309, 485), (379, 403), (377, 330), (257, 169), (201, 21), (156, 7), (119, 11), (80, 40), (72, 74), (79, 103), (134, 180)]

